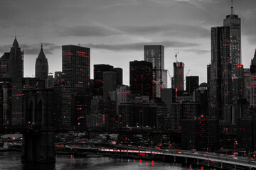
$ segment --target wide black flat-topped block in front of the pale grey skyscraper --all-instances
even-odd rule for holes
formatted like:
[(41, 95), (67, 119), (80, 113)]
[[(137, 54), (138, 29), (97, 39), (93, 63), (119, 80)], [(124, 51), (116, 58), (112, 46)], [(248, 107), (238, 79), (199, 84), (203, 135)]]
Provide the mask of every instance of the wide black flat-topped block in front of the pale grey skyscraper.
[(151, 62), (129, 62), (132, 94), (152, 97), (153, 69)]

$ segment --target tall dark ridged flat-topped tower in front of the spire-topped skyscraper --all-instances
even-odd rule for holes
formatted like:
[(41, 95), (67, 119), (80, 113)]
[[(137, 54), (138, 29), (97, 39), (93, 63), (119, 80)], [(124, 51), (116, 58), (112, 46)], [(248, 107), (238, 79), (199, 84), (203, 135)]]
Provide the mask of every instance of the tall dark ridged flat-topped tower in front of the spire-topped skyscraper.
[(223, 120), (223, 110), (232, 101), (229, 27), (211, 28), (211, 47), (210, 115)]

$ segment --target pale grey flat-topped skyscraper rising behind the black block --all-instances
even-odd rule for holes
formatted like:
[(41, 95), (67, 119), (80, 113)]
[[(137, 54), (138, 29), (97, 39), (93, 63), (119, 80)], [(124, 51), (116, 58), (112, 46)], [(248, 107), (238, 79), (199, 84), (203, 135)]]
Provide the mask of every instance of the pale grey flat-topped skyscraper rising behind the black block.
[(167, 70), (164, 69), (164, 45), (144, 45), (144, 61), (151, 62), (153, 72), (153, 95), (161, 97), (162, 88), (167, 88)]

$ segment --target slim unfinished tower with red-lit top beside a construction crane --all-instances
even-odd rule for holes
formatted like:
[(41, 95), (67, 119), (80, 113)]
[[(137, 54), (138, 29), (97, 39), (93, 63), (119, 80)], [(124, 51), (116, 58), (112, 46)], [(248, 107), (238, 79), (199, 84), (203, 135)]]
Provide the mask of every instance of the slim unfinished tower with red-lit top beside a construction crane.
[(184, 90), (184, 67), (183, 62), (174, 62), (174, 89)]

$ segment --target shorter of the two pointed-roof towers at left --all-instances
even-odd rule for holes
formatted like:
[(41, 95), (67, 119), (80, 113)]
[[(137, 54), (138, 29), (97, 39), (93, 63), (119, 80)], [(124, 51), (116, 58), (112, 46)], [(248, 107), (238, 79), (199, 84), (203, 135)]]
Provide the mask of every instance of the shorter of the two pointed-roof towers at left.
[(36, 58), (35, 72), (38, 79), (45, 80), (48, 78), (48, 60), (43, 52), (43, 45), (41, 45), (41, 50)]

